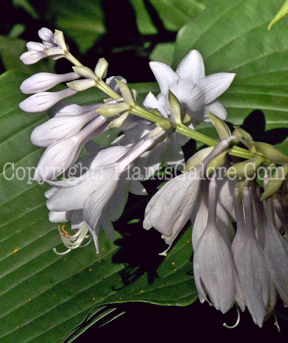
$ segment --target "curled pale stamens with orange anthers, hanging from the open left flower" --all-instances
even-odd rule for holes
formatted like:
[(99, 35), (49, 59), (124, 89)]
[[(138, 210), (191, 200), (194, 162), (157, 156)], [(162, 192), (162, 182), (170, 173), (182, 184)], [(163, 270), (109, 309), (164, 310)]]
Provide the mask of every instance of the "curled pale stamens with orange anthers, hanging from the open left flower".
[[(56, 248), (53, 248), (53, 251), (57, 255), (65, 255), (69, 253), (72, 249), (76, 248), (84, 248), (88, 244), (90, 244), (92, 237), (91, 235), (87, 235), (88, 233), (88, 227), (86, 223), (83, 223), (80, 227), (80, 229), (76, 232), (74, 235), (69, 235), (69, 232), (65, 230), (66, 225), (64, 224), (58, 226), (60, 238), (63, 242), (63, 244), (66, 246), (67, 250), (64, 252), (58, 252)], [(84, 244), (82, 244), (83, 240), (89, 238), (88, 241)]]

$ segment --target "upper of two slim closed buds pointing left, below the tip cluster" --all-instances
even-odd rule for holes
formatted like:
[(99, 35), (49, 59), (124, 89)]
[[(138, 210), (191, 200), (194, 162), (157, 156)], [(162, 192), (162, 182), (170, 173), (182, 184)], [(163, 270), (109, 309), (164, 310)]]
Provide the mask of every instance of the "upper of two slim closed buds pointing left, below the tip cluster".
[(22, 93), (33, 94), (45, 92), (60, 82), (79, 79), (75, 72), (67, 74), (37, 73), (24, 80), (20, 86)]

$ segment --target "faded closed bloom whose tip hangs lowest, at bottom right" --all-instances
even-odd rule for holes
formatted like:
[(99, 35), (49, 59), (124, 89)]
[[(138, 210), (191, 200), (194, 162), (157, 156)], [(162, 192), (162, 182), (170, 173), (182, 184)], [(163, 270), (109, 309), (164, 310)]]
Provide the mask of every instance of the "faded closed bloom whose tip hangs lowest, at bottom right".
[[(237, 197), (236, 197), (237, 198)], [(262, 327), (265, 316), (276, 302), (275, 286), (265, 263), (264, 252), (255, 236), (250, 189), (243, 190), (242, 204), (235, 199), (237, 221), (232, 251), (245, 304), (256, 324)]]

